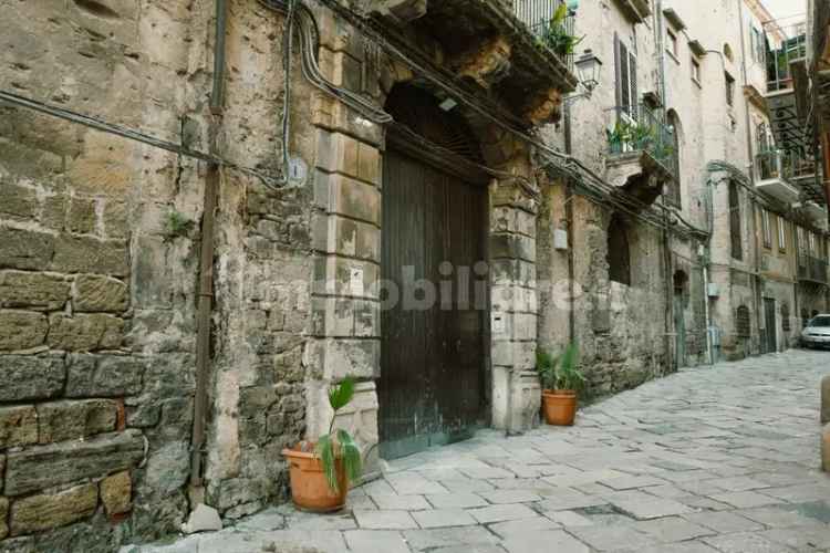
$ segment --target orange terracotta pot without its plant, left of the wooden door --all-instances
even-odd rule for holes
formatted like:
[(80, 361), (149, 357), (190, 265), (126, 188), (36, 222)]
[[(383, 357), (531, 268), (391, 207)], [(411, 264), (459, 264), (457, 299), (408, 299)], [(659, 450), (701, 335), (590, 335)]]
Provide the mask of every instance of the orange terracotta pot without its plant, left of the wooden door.
[(282, 455), (290, 466), (291, 498), (298, 509), (328, 513), (345, 507), (349, 480), (342, 460), (336, 461), (339, 491), (334, 492), (325, 480), (323, 463), (314, 457), (313, 452), (304, 452), (294, 448), (283, 449)]

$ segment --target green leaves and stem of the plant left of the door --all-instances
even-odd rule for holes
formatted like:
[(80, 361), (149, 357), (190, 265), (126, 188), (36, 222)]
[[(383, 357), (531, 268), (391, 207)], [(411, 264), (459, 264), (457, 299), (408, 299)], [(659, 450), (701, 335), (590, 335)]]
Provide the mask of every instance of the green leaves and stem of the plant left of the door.
[(314, 447), (314, 455), (323, 465), (323, 473), (329, 488), (335, 493), (340, 491), (338, 482), (338, 466), (342, 462), (349, 481), (361, 477), (361, 450), (349, 431), (343, 428), (334, 429), (338, 411), (349, 405), (354, 398), (354, 378), (346, 377), (339, 385), (329, 390), (329, 405), (333, 409), (329, 432), (321, 436)]

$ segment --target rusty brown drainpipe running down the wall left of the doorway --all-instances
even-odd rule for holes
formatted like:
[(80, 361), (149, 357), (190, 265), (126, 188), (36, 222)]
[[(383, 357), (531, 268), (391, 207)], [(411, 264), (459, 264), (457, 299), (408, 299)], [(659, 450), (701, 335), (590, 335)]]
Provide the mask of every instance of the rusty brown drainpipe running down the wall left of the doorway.
[[(214, 46), (214, 87), (210, 93), (208, 128), (210, 154), (218, 154), (218, 134), (225, 100), (225, 32), (227, 29), (226, 0), (216, 0), (216, 44)], [(214, 304), (214, 227), (216, 222), (216, 195), (219, 188), (219, 166), (210, 163), (205, 178), (204, 213), (201, 220), (201, 251), (199, 252), (199, 306), (196, 333), (196, 398), (190, 445), (191, 503), (204, 498), (201, 456), (205, 445), (205, 426), (208, 401), (208, 373), (210, 368), (210, 313)], [(195, 492), (195, 494), (194, 494)], [(198, 501), (194, 501), (194, 498)]]

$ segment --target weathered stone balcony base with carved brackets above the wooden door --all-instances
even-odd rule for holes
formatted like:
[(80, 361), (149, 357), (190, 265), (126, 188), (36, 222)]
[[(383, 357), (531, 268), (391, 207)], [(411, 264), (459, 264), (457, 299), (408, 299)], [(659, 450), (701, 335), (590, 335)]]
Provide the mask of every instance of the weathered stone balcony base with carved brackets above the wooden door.
[[(535, 0), (536, 1), (536, 0)], [(559, 0), (546, 0), (552, 17)], [(372, 12), (474, 94), (498, 98), (525, 126), (557, 122), (577, 88), (557, 53), (504, 0), (375, 0)]]

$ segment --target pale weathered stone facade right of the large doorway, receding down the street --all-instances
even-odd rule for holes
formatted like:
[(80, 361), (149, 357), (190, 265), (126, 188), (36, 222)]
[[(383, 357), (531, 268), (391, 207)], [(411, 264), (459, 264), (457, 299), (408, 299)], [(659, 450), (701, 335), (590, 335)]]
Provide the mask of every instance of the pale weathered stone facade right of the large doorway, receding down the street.
[[(808, 216), (800, 206), (810, 196), (798, 180), (770, 178), (764, 149), (776, 147), (778, 123), (767, 100), (768, 62), (792, 35), (769, 24), (762, 3), (743, 0), (588, 2), (575, 19), (577, 34), (584, 35), (579, 48), (604, 62), (600, 85), (588, 100), (566, 100), (572, 136), (563, 125), (549, 129), (549, 140), (562, 149), (570, 143), (577, 158), (631, 192), (629, 176), (649, 167), (610, 147), (612, 133), (619, 122), (656, 117), (657, 125), (647, 125), (673, 132), (677, 170), (654, 206), (663, 207), (671, 228), (693, 230), (666, 232), (551, 187), (544, 231), (569, 229), (574, 250), (590, 254), (552, 247), (540, 254), (557, 278), (570, 270), (581, 284), (570, 328), (569, 305), (557, 301), (556, 286), (542, 294), (540, 344), (557, 348), (578, 340), (598, 392), (677, 366), (798, 345), (809, 316), (828, 306), (827, 209), (819, 198), (820, 205), (808, 204)], [(620, 251), (620, 232), (627, 238), (625, 279), (615, 279), (612, 267), (620, 264), (611, 254)], [(817, 278), (806, 274), (810, 263)]]

